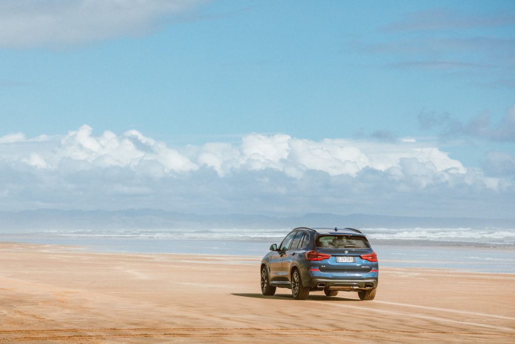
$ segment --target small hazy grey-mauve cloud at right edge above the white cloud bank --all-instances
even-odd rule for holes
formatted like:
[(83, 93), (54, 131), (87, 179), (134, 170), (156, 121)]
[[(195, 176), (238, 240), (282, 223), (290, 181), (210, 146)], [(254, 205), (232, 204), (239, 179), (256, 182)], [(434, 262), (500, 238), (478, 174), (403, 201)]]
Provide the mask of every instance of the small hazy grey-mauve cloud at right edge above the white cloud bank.
[(485, 112), (462, 122), (449, 113), (421, 112), (419, 126), (423, 130), (442, 129), (444, 137), (469, 136), (498, 142), (515, 141), (515, 105), (508, 109), (499, 125), (491, 124), (490, 115)]

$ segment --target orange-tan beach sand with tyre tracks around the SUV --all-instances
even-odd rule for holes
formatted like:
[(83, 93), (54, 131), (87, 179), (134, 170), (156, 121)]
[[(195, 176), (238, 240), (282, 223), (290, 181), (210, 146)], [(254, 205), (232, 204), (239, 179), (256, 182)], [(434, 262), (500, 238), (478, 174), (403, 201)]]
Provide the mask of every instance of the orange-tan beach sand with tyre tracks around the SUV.
[(515, 274), (380, 268), (374, 301), (297, 301), (259, 261), (0, 243), (0, 342), (515, 342)]

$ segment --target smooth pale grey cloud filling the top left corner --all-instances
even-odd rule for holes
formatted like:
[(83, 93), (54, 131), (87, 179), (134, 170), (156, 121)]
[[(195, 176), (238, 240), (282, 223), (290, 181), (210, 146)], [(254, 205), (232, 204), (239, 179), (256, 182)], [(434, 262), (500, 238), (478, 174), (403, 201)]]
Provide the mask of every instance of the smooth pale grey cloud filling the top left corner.
[(0, 46), (61, 46), (141, 35), (198, 2), (4, 0), (0, 2)]

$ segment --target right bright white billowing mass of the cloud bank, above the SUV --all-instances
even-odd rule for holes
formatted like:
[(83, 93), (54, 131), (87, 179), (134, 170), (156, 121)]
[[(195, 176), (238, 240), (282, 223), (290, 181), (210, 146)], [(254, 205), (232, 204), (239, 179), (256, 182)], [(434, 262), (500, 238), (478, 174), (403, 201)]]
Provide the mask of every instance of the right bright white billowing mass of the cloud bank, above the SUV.
[(403, 158), (432, 163), (435, 173), (466, 173), (462, 164), (438, 148), (416, 142), (380, 143), (373, 141), (329, 140), (319, 142), (288, 135), (251, 134), (242, 143), (208, 143), (190, 153), (192, 161), (207, 165), (225, 176), (231, 171), (274, 169), (294, 178), (305, 171), (355, 177), (365, 168), (388, 171), (400, 167)]

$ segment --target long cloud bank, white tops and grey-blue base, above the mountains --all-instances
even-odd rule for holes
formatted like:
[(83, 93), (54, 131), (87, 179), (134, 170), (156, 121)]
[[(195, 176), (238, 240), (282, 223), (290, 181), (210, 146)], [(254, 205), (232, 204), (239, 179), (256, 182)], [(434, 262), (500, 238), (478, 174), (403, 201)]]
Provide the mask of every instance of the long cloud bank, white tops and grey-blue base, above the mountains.
[(472, 202), (478, 192), (502, 200), (513, 183), (414, 139), (249, 134), (236, 143), (171, 147), (136, 130), (95, 135), (88, 125), (61, 136), (0, 137), (5, 209), (384, 213), (385, 202), (423, 207), (438, 199), (443, 207), (450, 198)]

